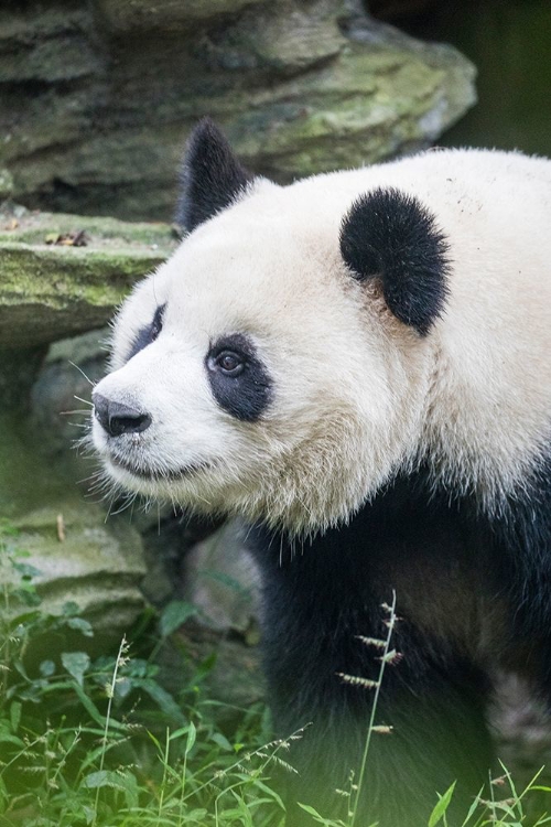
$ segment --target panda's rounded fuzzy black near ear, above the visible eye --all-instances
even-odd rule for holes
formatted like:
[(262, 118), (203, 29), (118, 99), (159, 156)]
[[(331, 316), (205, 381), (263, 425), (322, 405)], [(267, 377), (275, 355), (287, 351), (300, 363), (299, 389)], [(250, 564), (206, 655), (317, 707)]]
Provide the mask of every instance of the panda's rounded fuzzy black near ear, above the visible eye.
[(433, 215), (393, 187), (363, 195), (341, 226), (341, 255), (353, 276), (379, 279), (389, 310), (421, 335), (444, 309), (447, 250)]

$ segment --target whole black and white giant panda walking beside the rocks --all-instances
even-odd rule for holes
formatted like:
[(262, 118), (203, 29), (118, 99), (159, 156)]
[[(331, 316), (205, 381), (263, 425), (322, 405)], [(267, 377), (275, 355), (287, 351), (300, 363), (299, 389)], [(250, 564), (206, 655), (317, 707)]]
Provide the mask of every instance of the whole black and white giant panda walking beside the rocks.
[(94, 389), (105, 473), (248, 524), (300, 735), (288, 825), (355, 796), (356, 827), (426, 825), (522, 715), (536, 762), (551, 731), (551, 163), (432, 150), (280, 186), (204, 120), (177, 219)]

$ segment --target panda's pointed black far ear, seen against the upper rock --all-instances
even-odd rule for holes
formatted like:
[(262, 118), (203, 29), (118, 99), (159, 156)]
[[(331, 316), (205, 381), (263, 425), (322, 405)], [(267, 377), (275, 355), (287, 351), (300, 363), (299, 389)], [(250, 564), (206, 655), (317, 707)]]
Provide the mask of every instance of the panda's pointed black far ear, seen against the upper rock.
[(203, 118), (187, 141), (174, 219), (188, 232), (228, 206), (252, 181), (228, 141), (209, 118)]

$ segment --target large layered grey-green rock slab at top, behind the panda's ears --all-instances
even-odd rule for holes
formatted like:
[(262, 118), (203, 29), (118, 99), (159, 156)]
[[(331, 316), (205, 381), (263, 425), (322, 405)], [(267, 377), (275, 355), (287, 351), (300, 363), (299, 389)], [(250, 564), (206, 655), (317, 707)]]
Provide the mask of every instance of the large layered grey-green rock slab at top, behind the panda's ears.
[(359, 0), (30, 0), (0, 11), (1, 181), (31, 207), (166, 221), (203, 115), (284, 182), (425, 146), (474, 74)]

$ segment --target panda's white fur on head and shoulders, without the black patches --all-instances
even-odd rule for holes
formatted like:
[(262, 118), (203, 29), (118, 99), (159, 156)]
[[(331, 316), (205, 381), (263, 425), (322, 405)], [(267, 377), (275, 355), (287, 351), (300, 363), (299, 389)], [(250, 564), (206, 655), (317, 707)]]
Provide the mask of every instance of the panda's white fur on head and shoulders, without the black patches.
[[(451, 296), (425, 337), (339, 256), (343, 216), (378, 186), (415, 195), (451, 244)], [(151, 415), (123, 438), (137, 464), (208, 466), (139, 479), (110, 462), (97, 422), (96, 448), (125, 487), (294, 530), (346, 519), (419, 458), (496, 509), (550, 436), (550, 227), (551, 162), (519, 153), (440, 150), (287, 187), (257, 180), (138, 286), (97, 387)], [(161, 335), (125, 363), (163, 303)], [(258, 422), (218, 407), (204, 367), (209, 343), (236, 332), (274, 380)]]

